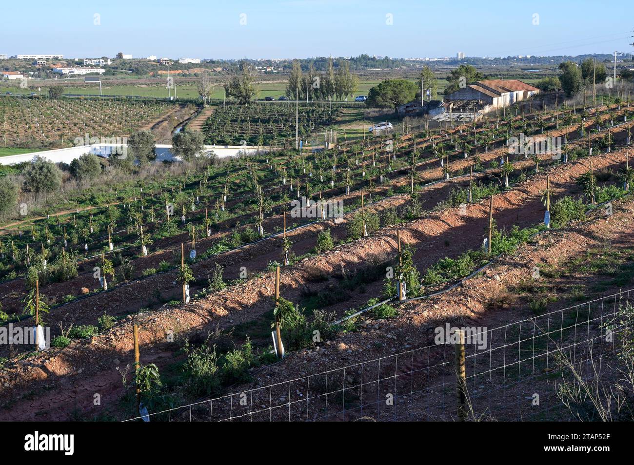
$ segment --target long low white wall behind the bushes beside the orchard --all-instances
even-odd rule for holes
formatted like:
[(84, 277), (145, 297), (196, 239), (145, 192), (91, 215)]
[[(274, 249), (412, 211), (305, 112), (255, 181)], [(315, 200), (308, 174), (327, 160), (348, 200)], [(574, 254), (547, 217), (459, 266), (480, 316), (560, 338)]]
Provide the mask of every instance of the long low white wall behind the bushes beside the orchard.
[[(15, 163), (32, 161), (36, 156), (41, 156), (54, 163), (70, 163), (75, 158), (79, 158), (84, 153), (93, 153), (94, 155), (107, 157), (113, 147), (117, 147), (120, 150), (120, 146), (117, 144), (93, 144), (93, 145), (81, 145), (77, 147), (60, 148), (54, 150), (44, 150), (32, 153), (23, 153), (22, 155), (8, 155), (0, 156), (0, 165), (13, 165)], [(171, 145), (157, 144), (157, 161), (162, 162), (164, 160), (179, 160), (178, 157), (172, 155), (170, 149)], [(213, 151), (219, 158), (226, 158), (228, 156), (236, 156), (238, 153), (246, 152), (249, 154), (257, 153), (258, 151), (268, 151), (270, 147), (254, 147), (254, 146), (236, 146), (236, 145), (205, 145), (205, 152), (210, 153)], [(273, 150), (278, 150), (273, 148)]]

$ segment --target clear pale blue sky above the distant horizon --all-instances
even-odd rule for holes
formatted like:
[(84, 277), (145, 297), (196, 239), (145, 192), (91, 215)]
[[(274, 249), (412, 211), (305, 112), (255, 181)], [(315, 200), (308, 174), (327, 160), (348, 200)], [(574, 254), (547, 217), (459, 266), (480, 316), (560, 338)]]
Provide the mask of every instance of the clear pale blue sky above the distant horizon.
[(631, 0), (5, 1), (0, 53), (70, 58), (119, 51), (170, 58), (631, 53), (632, 13)]

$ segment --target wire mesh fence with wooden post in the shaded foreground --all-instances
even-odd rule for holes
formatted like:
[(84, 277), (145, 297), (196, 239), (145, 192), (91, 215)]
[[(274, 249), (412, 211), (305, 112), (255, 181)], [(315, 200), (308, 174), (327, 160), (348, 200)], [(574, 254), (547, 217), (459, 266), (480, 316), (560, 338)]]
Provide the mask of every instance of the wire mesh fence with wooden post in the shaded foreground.
[[(567, 360), (611, 356), (621, 291), (498, 328), (436, 328), (434, 345), (155, 412), (149, 421), (549, 421)], [(460, 351), (463, 356), (460, 356)], [(458, 355), (456, 355), (458, 354)], [(463, 375), (461, 376), (461, 367)], [(136, 417), (131, 420), (140, 420)]]

